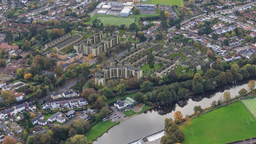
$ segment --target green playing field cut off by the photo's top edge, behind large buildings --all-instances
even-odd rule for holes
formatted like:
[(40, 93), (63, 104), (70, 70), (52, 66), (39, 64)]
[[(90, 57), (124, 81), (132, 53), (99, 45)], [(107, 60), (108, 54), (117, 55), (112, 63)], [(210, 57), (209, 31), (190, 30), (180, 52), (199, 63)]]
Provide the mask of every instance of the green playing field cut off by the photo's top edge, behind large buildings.
[(177, 5), (178, 7), (183, 7), (183, 1), (182, 0), (147, 0), (146, 2), (140, 2), (140, 3), (149, 3), (149, 4), (165, 4), (168, 6)]

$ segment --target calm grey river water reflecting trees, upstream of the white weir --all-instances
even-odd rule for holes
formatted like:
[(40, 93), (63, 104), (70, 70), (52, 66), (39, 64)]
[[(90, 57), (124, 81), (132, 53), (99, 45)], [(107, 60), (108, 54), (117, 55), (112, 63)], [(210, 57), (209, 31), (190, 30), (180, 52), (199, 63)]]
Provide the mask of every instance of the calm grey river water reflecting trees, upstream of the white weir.
[(94, 144), (125, 144), (161, 131), (164, 128), (164, 119), (173, 118), (175, 111), (181, 111), (183, 117), (185, 115), (191, 115), (194, 113), (194, 106), (200, 105), (202, 108), (209, 107), (210, 103), (214, 100), (217, 101), (226, 90), (230, 91), (232, 97), (238, 95), (241, 88), (247, 89), (247, 83), (252, 79), (256, 79), (256, 77), (250, 77), (243, 81), (220, 86), (215, 90), (205, 93), (195, 94), (190, 99), (180, 100), (168, 106), (153, 108), (147, 113), (142, 113), (114, 126), (107, 133), (99, 137), (97, 141), (94, 141)]

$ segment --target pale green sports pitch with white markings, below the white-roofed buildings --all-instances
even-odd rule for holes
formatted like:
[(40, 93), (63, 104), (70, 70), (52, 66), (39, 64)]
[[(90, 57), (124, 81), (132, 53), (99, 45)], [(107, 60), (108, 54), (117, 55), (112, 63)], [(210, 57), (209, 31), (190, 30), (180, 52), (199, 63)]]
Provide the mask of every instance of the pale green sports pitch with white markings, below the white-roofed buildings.
[(97, 17), (104, 25), (122, 25), (125, 24), (129, 26), (134, 22), (135, 18), (119, 18), (119, 17)]

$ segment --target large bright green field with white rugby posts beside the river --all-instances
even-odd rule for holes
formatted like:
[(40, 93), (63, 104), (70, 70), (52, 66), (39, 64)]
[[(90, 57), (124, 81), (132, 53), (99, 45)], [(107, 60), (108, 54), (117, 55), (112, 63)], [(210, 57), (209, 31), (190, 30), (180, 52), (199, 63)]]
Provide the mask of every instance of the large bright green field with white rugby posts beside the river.
[(200, 115), (181, 125), (180, 129), (185, 134), (182, 143), (216, 144), (256, 137), (256, 121), (241, 102)]

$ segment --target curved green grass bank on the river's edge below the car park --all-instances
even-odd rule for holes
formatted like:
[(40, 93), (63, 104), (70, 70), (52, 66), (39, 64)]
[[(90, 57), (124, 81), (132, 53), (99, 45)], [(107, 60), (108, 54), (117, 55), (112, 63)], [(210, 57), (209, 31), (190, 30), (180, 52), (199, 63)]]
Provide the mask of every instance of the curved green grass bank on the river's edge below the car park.
[(114, 125), (119, 124), (120, 121), (117, 122), (112, 122), (112, 121), (101, 121), (98, 122), (96, 125), (94, 125), (92, 127), (92, 129), (90, 129), (85, 136), (87, 137), (87, 142), (88, 141), (92, 141), (98, 137), (100, 137), (101, 135), (103, 135), (108, 129), (110, 129), (111, 127), (113, 127)]

